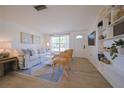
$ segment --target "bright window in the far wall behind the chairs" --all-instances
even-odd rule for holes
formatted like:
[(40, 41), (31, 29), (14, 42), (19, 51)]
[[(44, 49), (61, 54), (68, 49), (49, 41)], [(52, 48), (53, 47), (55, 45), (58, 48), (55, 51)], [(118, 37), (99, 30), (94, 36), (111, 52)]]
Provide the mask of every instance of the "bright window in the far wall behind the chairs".
[(64, 51), (69, 48), (69, 35), (51, 37), (51, 48), (53, 51)]

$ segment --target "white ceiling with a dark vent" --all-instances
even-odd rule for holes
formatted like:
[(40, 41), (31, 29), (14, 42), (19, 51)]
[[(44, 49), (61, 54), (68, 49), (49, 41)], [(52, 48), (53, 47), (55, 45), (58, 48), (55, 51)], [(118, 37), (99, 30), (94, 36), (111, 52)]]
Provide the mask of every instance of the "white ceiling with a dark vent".
[(16, 22), (41, 33), (86, 31), (95, 21), (103, 6), (48, 5), (36, 11), (32, 5), (0, 6), (6, 20)]

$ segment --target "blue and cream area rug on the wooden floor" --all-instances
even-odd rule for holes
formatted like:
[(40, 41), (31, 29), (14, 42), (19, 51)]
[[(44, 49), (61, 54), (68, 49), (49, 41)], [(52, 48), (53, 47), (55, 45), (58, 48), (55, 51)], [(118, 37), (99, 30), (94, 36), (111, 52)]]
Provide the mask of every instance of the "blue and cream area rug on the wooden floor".
[(54, 74), (52, 73), (52, 67), (51, 66), (43, 66), (38, 70), (33, 70), (33, 67), (27, 70), (20, 71), (23, 74), (32, 75), (34, 77), (37, 77), (41, 80), (47, 80), (54, 83), (59, 82), (63, 76), (63, 70), (62, 68), (55, 68)]

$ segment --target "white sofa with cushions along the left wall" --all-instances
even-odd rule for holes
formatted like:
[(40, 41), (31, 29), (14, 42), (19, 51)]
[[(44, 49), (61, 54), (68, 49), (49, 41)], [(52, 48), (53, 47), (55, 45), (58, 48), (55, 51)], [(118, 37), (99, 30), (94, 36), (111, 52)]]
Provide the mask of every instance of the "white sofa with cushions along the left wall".
[(51, 65), (54, 53), (48, 49), (21, 49), (19, 66), (21, 69), (29, 69), (41, 64)]

